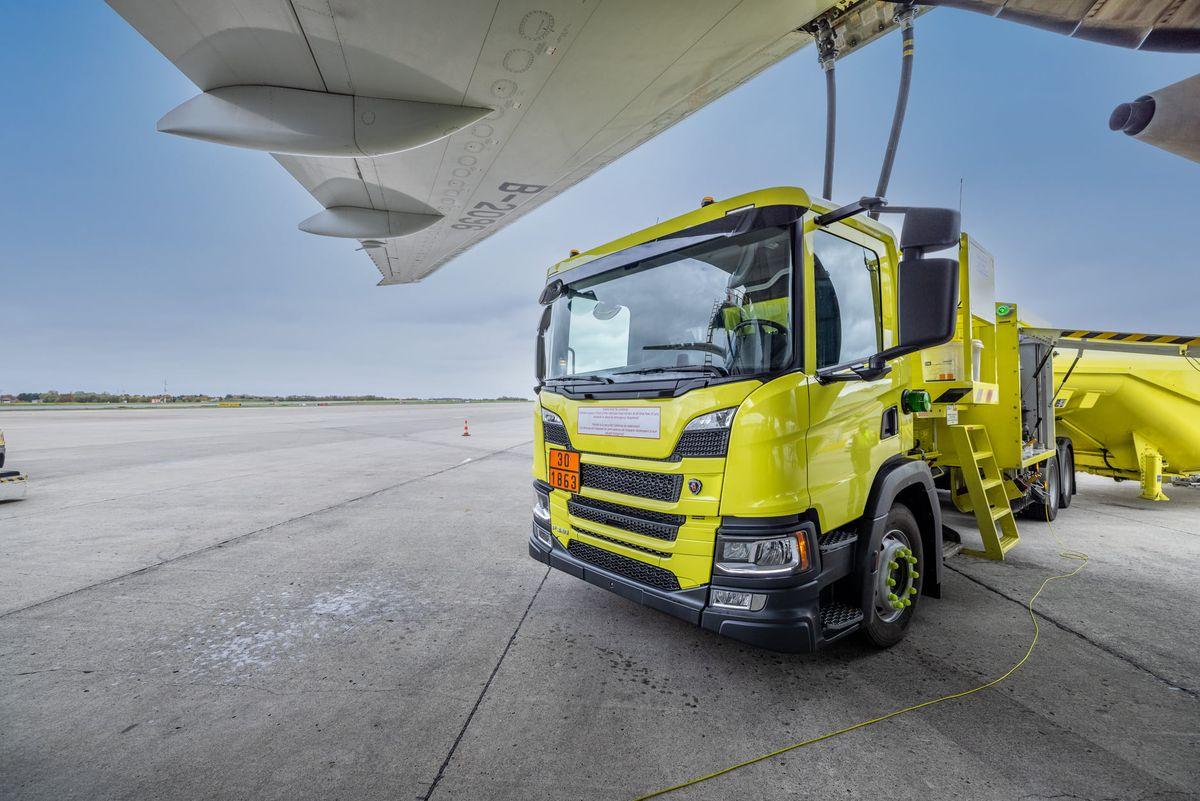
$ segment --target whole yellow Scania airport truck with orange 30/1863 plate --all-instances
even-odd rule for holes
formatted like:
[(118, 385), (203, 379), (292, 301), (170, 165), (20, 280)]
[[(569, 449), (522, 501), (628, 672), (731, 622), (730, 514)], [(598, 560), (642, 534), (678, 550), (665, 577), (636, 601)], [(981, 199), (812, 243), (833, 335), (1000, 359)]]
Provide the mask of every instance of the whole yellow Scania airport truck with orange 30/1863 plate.
[(540, 300), (529, 554), (635, 602), (781, 651), (888, 646), (959, 547), (943, 502), (994, 559), (1015, 513), (1070, 502), (1055, 339), (996, 302), (954, 211), (706, 198), (572, 252)]

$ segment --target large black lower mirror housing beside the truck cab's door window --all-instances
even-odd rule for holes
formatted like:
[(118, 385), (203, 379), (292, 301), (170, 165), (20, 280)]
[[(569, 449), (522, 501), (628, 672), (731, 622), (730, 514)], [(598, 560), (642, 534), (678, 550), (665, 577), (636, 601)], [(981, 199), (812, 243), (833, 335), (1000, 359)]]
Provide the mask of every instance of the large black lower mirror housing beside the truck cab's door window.
[(902, 259), (899, 272), (900, 342), (883, 351), (884, 359), (895, 359), (949, 342), (954, 338), (958, 318), (956, 260)]

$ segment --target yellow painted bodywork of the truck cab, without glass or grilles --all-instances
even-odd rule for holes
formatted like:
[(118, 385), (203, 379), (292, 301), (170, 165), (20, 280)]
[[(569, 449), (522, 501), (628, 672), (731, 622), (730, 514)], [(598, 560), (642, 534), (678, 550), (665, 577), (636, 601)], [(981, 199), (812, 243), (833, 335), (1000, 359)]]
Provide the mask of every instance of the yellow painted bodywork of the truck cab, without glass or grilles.
[[(550, 270), (550, 276), (582, 266), (594, 259), (718, 219), (746, 206), (798, 205), (821, 213), (830, 209), (814, 204), (798, 188), (762, 189), (702, 206), (692, 212), (637, 231), (586, 253), (572, 255)], [(805, 225), (811, 236), (810, 219)], [(899, 253), (892, 231), (874, 221), (857, 217), (828, 229), (830, 233), (868, 247), (880, 257), (877, 313), (882, 318), (881, 344), (895, 342), (895, 267)], [(812, 251), (805, 248), (802, 285), (814, 279)], [(576, 401), (546, 389), (540, 393), (541, 406), (557, 414), (568, 430), (571, 448), (581, 452), (583, 465), (595, 464), (623, 470), (679, 476), (683, 489), (677, 502), (605, 492), (587, 483), (580, 495), (634, 508), (682, 514), (685, 517), (674, 542), (643, 537), (620, 529), (577, 519), (570, 514), (570, 493), (551, 492), (551, 530), (563, 546), (571, 540), (620, 554), (671, 571), (682, 589), (706, 584), (710, 579), (715, 530), (721, 517), (782, 517), (814, 508), (822, 530), (844, 525), (862, 516), (868, 494), (880, 465), (907, 451), (912, 445), (912, 421), (899, 415), (895, 435), (881, 439), (881, 422), (889, 406), (899, 404), (918, 356), (895, 363), (887, 379), (862, 383), (818, 384), (816, 372), (816, 309), (811, 293), (804, 297), (802, 354), (804, 369), (778, 375), (768, 383), (757, 379), (692, 390), (677, 398), (586, 399)], [(788, 319), (788, 309), (762, 308), (760, 318)], [(726, 313), (725, 324), (736, 325), (737, 315)], [(660, 436), (637, 439), (580, 434), (578, 409), (611, 406), (656, 406), (660, 410)], [(684, 427), (692, 418), (737, 406), (730, 433), (726, 458), (683, 458), (671, 460), (672, 451)], [(533, 475), (547, 480), (547, 452), (558, 445), (542, 436), (540, 411), (535, 411), (536, 440)], [(816, 477), (814, 480), (814, 477)], [(690, 481), (700, 482), (692, 493)], [(810, 492), (811, 490), (811, 492)], [(656, 553), (652, 553), (656, 552)]]

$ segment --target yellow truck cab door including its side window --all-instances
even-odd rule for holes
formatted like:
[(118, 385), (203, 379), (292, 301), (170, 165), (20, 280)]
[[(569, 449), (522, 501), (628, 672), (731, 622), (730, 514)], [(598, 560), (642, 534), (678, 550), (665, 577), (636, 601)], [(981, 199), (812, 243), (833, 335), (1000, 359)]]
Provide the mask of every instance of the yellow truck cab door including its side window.
[[(895, 265), (887, 245), (848, 225), (805, 235), (805, 371), (865, 359), (895, 342)], [(808, 472), (822, 529), (858, 518), (880, 465), (901, 452), (905, 360), (876, 381), (809, 380)]]

